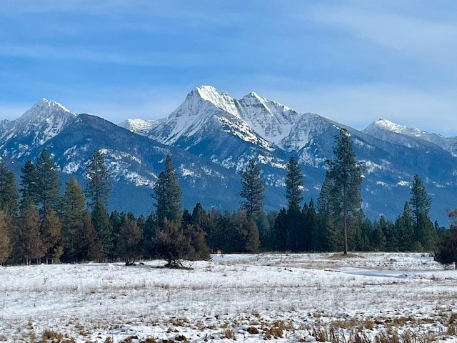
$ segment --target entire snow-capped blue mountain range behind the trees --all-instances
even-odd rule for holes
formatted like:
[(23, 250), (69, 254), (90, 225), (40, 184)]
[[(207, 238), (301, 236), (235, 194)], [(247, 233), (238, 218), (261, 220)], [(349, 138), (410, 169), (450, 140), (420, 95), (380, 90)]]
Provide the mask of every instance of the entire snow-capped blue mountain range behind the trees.
[(239, 174), (249, 159), (256, 159), (267, 185), (264, 209), (277, 211), (286, 206), (283, 178), (290, 156), (304, 175), (304, 199), (316, 201), (340, 128), (351, 134), (356, 159), (366, 164), (361, 192), (367, 217), (401, 214), (418, 174), (433, 200), (431, 219), (447, 225), (446, 209), (457, 202), (457, 137), (386, 119), (358, 131), (254, 92), (234, 99), (212, 86), (199, 86), (167, 118), (127, 119), (119, 125), (41, 99), (19, 119), (0, 121), (0, 156), (19, 176), (24, 161), (34, 161), (47, 149), (61, 179), (75, 175), (84, 187), (84, 163), (101, 149), (113, 184), (110, 209), (145, 215), (154, 209), (152, 187), (166, 154), (190, 210), (196, 202), (236, 209), (242, 200)]

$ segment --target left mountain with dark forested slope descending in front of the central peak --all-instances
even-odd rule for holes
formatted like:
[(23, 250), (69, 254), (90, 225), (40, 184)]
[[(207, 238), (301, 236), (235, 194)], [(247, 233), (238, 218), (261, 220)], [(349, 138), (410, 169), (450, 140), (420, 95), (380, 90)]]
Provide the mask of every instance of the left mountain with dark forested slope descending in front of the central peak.
[[(94, 150), (101, 149), (113, 185), (110, 209), (148, 215), (154, 209), (152, 188), (163, 170), (166, 154), (170, 154), (179, 175), (186, 207), (194, 207), (196, 189), (200, 195), (198, 201), (205, 207), (233, 207), (231, 199), (229, 201), (226, 198), (226, 189), (238, 187), (239, 177), (236, 174), (211, 161), (164, 146), (97, 116), (64, 113), (58, 111), (61, 105), (49, 104), (51, 106), (41, 106), (40, 101), (32, 107), (33, 111), (29, 110), (25, 116), (9, 123), (9, 131), (2, 131), (4, 139), (0, 141), (0, 154), (16, 176), (19, 177), (24, 161), (35, 161), (41, 150), (46, 149), (58, 164), (61, 179), (65, 182), (70, 175), (74, 175), (84, 187), (84, 164)], [(59, 113), (56, 114), (56, 111)], [(49, 116), (49, 113), (52, 115)], [(58, 125), (51, 125), (51, 122)], [(50, 127), (58, 127), (59, 130), (49, 131)], [(22, 149), (23, 146), (26, 149)]]

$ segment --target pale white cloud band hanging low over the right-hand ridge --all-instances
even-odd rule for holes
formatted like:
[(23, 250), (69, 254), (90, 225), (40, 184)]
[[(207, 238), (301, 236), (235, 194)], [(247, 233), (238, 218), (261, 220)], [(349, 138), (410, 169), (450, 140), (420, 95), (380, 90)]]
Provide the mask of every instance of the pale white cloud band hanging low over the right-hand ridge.
[[(390, 84), (321, 86), (305, 91), (272, 91), (297, 111), (364, 129), (379, 118), (445, 136), (457, 135), (457, 89), (421, 91)], [(439, 120), (437, 120), (439, 118)]]

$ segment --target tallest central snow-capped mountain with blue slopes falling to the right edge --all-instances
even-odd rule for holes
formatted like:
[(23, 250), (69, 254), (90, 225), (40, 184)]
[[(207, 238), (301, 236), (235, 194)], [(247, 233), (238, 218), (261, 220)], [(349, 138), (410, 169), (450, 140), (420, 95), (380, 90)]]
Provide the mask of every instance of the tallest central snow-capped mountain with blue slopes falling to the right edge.
[(445, 218), (446, 207), (456, 199), (456, 159), (452, 149), (437, 144), (438, 135), (403, 128), (387, 133), (378, 128), (357, 131), (317, 114), (301, 114), (254, 92), (236, 100), (214, 87), (201, 86), (146, 136), (211, 159), (236, 173), (243, 170), (248, 159), (256, 159), (269, 186), (266, 197), (276, 199), (266, 203), (276, 204), (277, 209), (286, 205), (283, 177), (289, 156), (300, 162), (305, 192), (316, 199), (326, 159), (333, 156), (333, 137), (342, 127), (353, 136), (357, 159), (366, 163), (362, 196), (368, 216), (385, 214), (392, 218), (401, 213), (411, 197), (413, 175), (419, 174), (434, 194), (434, 214)]

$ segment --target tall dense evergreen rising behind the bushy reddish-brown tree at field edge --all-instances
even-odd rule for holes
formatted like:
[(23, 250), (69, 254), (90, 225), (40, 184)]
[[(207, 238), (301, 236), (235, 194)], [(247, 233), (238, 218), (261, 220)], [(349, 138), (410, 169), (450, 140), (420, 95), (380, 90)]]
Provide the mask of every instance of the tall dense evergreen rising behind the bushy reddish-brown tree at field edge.
[(170, 155), (166, 155), (164, 171), (159, 174), (159, 178), (154, 186), (153, 197), (156, 199), (157, 221), (161, 224), (164, 219), (181, 224), (182, 201), (181, 188)]

